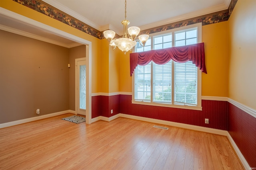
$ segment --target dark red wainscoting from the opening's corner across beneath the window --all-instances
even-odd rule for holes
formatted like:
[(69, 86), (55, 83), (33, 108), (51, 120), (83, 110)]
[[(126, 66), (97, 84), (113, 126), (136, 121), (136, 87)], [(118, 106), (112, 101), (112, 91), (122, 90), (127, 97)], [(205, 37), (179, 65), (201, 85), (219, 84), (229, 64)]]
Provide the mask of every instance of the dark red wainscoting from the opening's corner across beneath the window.
[[(226, 101), (202, 100), (202, 111), (198, 111), (132, 104), (131, 95), (92, 97), (92, 118), (111, 117), (118, 113), (227, 130)], [(204, 123), (205, 118), (209, 119), (209, 124)]]

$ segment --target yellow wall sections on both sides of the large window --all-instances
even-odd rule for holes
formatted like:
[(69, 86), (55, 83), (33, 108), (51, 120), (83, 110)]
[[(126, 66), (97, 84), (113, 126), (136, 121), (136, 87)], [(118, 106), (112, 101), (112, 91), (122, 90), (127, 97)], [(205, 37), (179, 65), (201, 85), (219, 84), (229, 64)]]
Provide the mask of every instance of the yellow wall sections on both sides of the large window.
[[(228, 35), (227, 21), (204, 25), (204, 42), (207, 74), (202, 73), (202, 96), (228, 96)], [(120, 92), (132, 92), (130, 56), (120, 55)]]

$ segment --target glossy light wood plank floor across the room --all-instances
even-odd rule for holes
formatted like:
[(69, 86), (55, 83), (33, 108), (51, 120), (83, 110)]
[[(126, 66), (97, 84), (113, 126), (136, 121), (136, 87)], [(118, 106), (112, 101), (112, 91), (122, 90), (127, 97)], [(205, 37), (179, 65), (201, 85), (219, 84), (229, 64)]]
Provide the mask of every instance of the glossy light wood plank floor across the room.
[[(59, 115), (0, 129), (0, 170), (243, 170), (227, 137), (118, 118)], [(163, 125), (162, 125), (163, 126)]]

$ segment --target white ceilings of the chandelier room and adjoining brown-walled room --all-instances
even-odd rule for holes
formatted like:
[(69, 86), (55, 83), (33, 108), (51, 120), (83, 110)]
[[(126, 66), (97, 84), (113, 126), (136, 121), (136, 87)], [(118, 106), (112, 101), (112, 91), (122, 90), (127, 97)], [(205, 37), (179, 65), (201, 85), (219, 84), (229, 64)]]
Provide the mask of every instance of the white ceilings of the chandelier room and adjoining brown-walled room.
[[(104, 31), (111, 29), (122, 35), (124, 20), (124, 0), (43, 0), (47, 4), (73, 16), (74, 18)], [(141, 30), (166, 25), (176, 21), (228, 9), (231, 0), (127, 0), (126, 19), (129, 26)], [(24, 21), (0, 14), (0, 29), (24, 36), (34, 36), (42, 41), (50, 41), (64, 47), (78, 44), (65, 37), (52, 34), (42, 27), (35, 27)]]

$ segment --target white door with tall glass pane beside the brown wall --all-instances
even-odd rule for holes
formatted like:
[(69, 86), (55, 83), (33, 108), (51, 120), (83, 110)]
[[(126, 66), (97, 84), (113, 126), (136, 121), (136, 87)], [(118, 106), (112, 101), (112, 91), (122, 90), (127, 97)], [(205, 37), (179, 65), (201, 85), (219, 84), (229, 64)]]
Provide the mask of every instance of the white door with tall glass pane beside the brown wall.
[(76, 114), (86, 115), (86, 61), (76, 59)]

